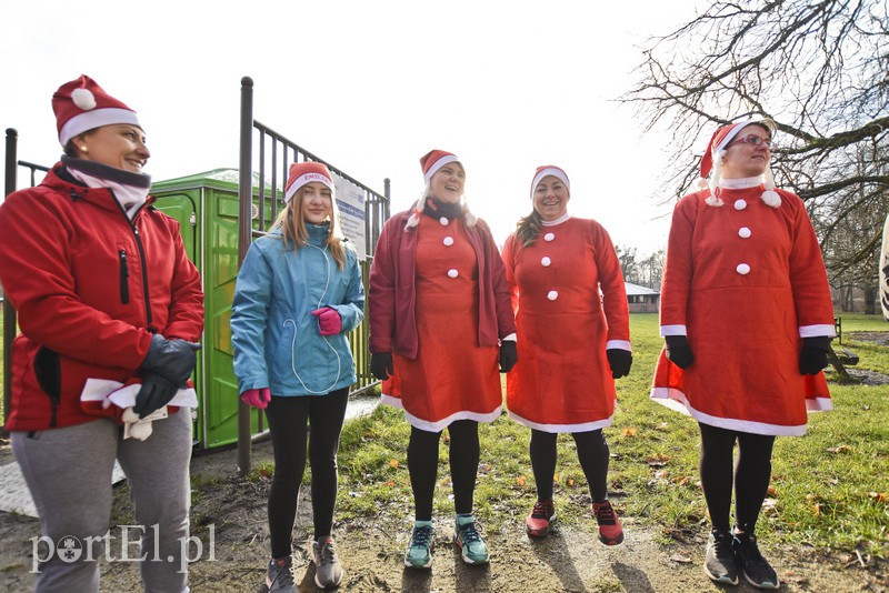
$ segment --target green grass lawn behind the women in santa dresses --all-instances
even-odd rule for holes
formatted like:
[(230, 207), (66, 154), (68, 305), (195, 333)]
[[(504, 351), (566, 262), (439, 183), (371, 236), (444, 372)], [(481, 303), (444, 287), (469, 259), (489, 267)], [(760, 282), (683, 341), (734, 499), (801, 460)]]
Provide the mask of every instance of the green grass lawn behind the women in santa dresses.
[[(889, 331), (882, 318), (843, 315), (842, 329), (843, 345), (861, 356), (858, 368), (889, 374), (889, 346), (850, 335)], [(609, 495), (621, 514), (662, 527), (666, 537), (681, 539), (707, 524), (697, 424), (649, 400), (661, 346), (657, 314), (631, 315), (631, 333), (632, 372), (618, 381), (618, 410), (606, 430), (612, 458)], [(772, 543), (857, 549), (889, 557), (889, 385), (831, 381), (830, 386), (835, 411), (810, 415), (807, 436), (777, 440), (758, 534)], [(346, 426), (338, 514), (376, 515), (386, 507), (410, 515), (409, 434), (402, 412), (389, 406)], [(523, 521), (536, 500), (529, 431), (505, 414), (482, 426), (480, 438), (477, 512), (487, 529), (499, 530)], [(447, 516), (453, 503), (444, 446), (438, 475), (436, 514)], [(555, 496), (563, 522), (589, 513), (589, 491), (569, 435), (559, 439)]]

